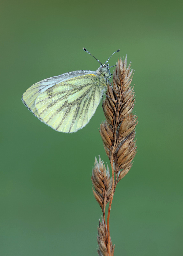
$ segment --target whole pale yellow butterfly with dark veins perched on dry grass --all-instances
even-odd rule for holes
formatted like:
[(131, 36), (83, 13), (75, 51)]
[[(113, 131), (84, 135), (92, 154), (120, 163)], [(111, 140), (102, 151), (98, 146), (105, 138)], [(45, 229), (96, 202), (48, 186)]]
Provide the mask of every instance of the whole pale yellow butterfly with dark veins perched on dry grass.
[(68, 72), (33, 84), (22, 101), (34, 116), (56, 131), (76, 132), (88, 124), (110, 83), (109, 68), (113, 66), (109, 67), (108, 60), (105, 64), (97, 60), (100, 67), (96, 71)]

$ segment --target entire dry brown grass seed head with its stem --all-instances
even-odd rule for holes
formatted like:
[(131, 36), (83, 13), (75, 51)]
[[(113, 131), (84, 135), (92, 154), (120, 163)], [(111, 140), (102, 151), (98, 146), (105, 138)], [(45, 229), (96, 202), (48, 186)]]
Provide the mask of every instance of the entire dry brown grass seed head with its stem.
[[(95, 159), (92, 170), (93, 194), (102, 208), (103, 218), (98, 227), (98, 254), (99, 256), (113, 256), (114, 245), (110, 237), (110, 211), (113, 195), (118, 182), (129, 172), (136, 154), (135, 128), (138, 123), (137, 116), (132, 114), (135, 95), (134, 87), (131, 87), (133, 69), (131, 62), (127, 67), (125, 60), (118, 60), (116, 70), (113, 73), (113, 84), (108, 85), (103, 100), (103, 110), (106, 121), (100, 125), (100, 135), (104, 149), (109, 157), (112, 171), (110, 178), (109, 169), (105, 168), (99, 156), (99, 163)], [(114, 175), (115, 173), (115, 175)], [(105, 220), (105, 208), (109, 202), (107, 224)]]

